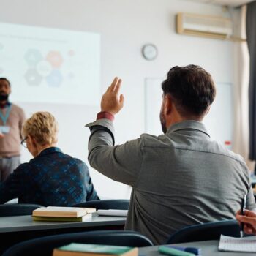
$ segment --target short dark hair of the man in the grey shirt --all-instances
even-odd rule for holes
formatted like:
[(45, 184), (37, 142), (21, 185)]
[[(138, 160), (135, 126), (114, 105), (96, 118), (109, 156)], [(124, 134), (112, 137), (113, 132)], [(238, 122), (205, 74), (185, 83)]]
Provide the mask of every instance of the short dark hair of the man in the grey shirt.
[(214, 101), (216, 89), (211, 75), (196, 65), (173, 67), (162, 82), (181, 116), (201, 116)]

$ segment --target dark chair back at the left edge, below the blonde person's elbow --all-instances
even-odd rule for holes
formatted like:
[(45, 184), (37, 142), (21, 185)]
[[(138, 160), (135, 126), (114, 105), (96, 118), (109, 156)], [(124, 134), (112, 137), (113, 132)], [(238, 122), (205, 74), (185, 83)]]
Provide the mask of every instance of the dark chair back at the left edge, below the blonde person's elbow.
[(43, 207), (30, 203), (7, 203), (0, 205), (0, 217), (31, 215), (34, 209)]

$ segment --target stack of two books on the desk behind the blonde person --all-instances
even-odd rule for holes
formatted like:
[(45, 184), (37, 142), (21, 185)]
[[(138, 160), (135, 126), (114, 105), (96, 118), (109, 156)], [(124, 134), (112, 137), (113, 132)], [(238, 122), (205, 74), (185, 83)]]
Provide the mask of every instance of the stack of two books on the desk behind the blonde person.
[(34, 210), (32, 218), (39, 221), (83, 222), (90, 219), (94, 212), (95, 208), (48, 206)]

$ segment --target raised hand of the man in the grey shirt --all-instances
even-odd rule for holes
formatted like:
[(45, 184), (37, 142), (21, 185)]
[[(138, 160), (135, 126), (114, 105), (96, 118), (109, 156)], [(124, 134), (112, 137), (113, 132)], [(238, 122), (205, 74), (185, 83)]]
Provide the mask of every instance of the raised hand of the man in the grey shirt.
[(121, 79), (115, 78), (102, 96), (101, 110), (116, 115), (124, 106), (124, 95), (118, 96)]

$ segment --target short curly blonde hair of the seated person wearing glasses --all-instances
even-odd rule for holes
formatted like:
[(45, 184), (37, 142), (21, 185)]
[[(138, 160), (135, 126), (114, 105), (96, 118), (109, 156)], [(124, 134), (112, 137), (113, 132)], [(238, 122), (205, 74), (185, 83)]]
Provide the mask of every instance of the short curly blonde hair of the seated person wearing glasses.
[(54, 144), (57, 142), (58, 123), (49, 112), (34, 113), (27, 119), (22, 127), (22, 134), (25, 137), (30, 135), (39, 145)]

